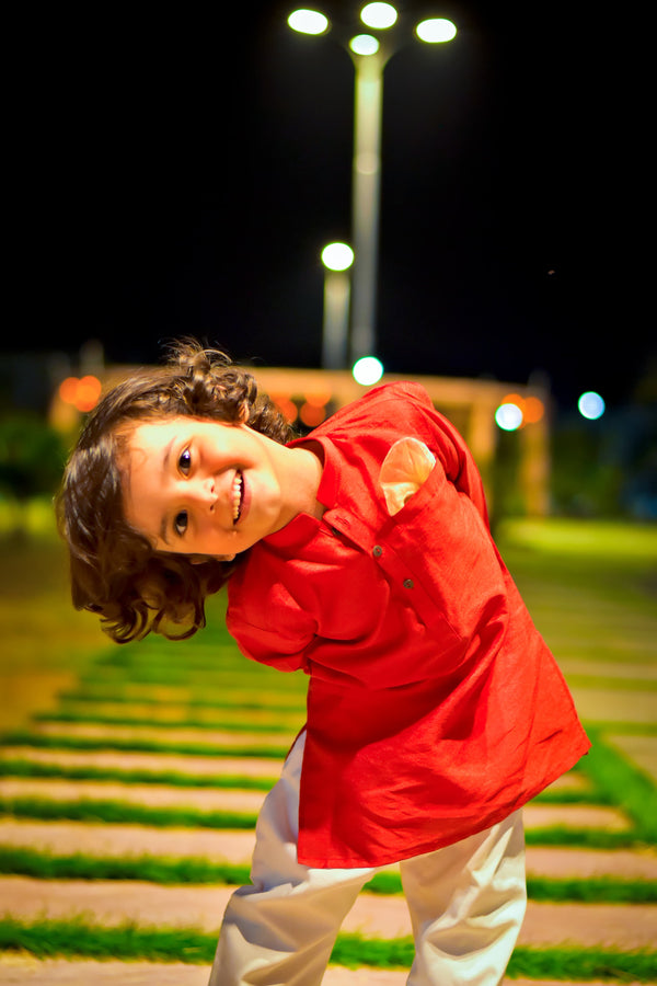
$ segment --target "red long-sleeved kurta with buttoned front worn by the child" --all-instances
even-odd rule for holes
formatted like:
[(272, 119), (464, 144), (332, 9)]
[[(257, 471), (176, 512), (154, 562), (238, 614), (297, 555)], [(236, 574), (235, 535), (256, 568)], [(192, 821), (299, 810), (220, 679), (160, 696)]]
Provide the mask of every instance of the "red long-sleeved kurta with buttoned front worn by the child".
[[(379, 472), (408, 436), (437, 462), (391, 517)], [(228, 627), (247, 656), (310, 675), (299, 860), (383, 865), (499, 822), (589, 742), (426, 391), (377, 388), (291, 445), (311, 439), (326, 512), (251, 549)]]

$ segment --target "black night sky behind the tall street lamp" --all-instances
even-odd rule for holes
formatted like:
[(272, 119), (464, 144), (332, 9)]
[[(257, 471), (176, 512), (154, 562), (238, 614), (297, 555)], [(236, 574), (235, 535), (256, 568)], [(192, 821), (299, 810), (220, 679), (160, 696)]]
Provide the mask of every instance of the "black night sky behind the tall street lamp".
[[(408, 43), (384, 77), (387, 369), (540, 371), (563, 406), (581, 390), (636, 393), (655, 335), (642, 28), (611, 34), (585, 8), (400, 7)], [(148, 363), (195, 334), (255, 365), (319, 365), (320, 251), (349, 239), (354, 73), (331, 35), (287, 27), (291, 9), (107, 4), (16, 34), (5, 352), (74, 355), (99, 339), (111, 362)], [(428, 14), (451, 18), (456, 41), (414, 41)]]

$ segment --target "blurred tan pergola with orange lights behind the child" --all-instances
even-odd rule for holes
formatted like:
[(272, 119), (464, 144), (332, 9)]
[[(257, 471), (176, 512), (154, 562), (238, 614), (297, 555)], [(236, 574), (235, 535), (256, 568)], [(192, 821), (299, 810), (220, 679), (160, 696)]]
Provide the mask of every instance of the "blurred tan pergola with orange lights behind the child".
[[(245, 368), (253, 372), (260, 387), (284, 412), (287, 408), (293, 408), (295, 413), (300, 413), (301, 422), (296, 421), (295, 424), (300, 424), (306, 431), (371, 389), (358, 383), (350, 370)], [(102, 370), (99, 368), (103, 391), (137, 369), (139, 367), (125, 365), (105, 366)], [(384, 374), (379, 383), (408, 379), (425, 387), (437, 410), (453, 422), (465, 438), (482, 473), (489, 507), (493, 505), (493, 470), (500, 437), (495, 412), (509, 393), (517, 394), (522, 400), (538, 398), (545, 409), (544, 413), (517, 432), (520, 460), (517, 481), (525, 514), (541, 517), (549, 513), (550, 415), (546, 392), (537, 387), (498, 380), (395, 374)], [(309, 408), (314, 415), (314, 420), (307, 419), (306, 426), (302, 423), (304, 408)], [(66, 404), (59, 391), (56, 391), (50, 408), (51, 424), (62, 431), (72, 431), (80, 419), (80, 412), (71, 404)]]

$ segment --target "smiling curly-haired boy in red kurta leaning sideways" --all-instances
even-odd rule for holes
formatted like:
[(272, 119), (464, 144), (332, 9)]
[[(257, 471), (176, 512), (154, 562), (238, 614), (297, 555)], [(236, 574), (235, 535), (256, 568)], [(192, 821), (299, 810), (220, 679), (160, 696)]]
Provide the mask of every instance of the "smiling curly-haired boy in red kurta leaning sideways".
[(377, 388), (291, 439), (247, 374), (182, 344), (94, 412), (59, 512), (73, 600), (115, 640), (195, 632), (228, 578), (243, 653), (310, 678), (210, 986), (321, 983), (393, 862), (407, 982), (496, 986), (525, 914), (521, 807), (589, 743), (423, 388)]

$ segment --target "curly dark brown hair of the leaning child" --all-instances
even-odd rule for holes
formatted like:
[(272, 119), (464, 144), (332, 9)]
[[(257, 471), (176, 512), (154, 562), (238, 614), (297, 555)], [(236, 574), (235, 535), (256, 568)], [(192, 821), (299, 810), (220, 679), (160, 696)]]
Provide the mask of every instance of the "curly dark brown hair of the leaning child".
[(73, 606), (99, 614), (117, 643), (150, 631), (171, 640), (194, 634), (206, 622), (206, 597), (243, 558), (194, 563), (155, 551), (125, 519), (119, 459), (126, 433), (143, 421), (177, 415), (245, 421), (281, 444), (293, 437), (251, 374), (194, 340), (174, 344), (166, 365), (140, 370), (103, 397), (69, 458), (55, 508), (69, 549)]

